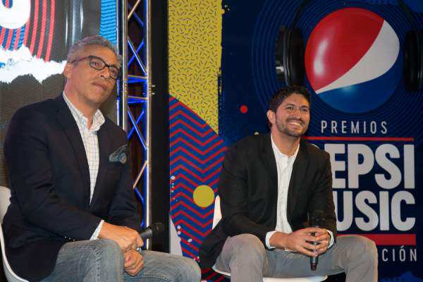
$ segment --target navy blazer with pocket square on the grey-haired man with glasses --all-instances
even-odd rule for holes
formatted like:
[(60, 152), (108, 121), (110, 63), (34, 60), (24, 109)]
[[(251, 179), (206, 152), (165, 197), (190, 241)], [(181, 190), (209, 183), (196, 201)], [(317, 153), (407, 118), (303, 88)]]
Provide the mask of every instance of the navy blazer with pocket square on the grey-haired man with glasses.
[(109, 161), (126, 135), (106, 118), (97, 136), (99, 172), (90, 204), (87, 157), (63, 96), (25, 106), (11, 119), (4, 145), (11, 205), (3, 228), (6, 255), (19, 276), (39, 281), (51, 274), (61, 246), (90, 239), (101, 219), (139, 228), (130, 164)]

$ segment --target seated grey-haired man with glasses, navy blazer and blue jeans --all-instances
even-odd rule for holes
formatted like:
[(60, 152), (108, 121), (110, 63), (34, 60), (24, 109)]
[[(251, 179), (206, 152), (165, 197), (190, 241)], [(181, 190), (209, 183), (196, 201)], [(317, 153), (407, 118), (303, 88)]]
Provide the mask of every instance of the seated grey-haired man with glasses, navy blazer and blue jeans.
[(120, 68), (109, 41), (82, 39), (68, 53), (63, 93), (11, 120), (3, 228), (12, 269), (27, 280), (200, 281), (192, 259), (137, 251), (126, 135), (99, 111)]

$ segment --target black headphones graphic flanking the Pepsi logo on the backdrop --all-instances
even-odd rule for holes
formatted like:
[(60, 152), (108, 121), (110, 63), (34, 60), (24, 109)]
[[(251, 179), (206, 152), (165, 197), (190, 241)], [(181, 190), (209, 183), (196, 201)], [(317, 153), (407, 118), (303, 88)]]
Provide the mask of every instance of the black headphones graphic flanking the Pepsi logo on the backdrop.
[[(283, 25), (275, 44), (276, 75), (287, 86), (303, 85), (305, 77), (305, 46), (301, 30), (295, 27), (298, 18), (311, 0), (304, 0), (298, 6), (292, 27)], [(412, 30), (405, 35), (403, 79), (405, 89), (415, 92), (423, 88), (423, 32), (417, 29), (417, 20), (403, 0), (398, 0), (405, 12)]]

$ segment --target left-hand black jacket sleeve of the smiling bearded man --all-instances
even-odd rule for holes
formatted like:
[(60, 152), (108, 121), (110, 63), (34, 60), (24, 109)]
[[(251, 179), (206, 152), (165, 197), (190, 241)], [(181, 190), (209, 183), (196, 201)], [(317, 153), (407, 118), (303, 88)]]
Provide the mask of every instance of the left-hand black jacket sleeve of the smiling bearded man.
[(226, 152), (219, 180), (223, 231), (229, 236), (250, 233), (266, 245), (266, 233), (273, 229), (247, 216), (247, 180), (245, 157), (242, 149), (235, 145)]

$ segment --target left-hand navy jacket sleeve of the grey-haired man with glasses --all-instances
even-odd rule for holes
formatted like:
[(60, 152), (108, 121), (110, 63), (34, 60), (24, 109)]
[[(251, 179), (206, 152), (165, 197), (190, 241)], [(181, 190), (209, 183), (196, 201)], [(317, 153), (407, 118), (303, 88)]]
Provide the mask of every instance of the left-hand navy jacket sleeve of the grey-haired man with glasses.
[(16, 197), (23, 216), (33, 225), (63, 237), (87, 240), (101, 219), (73, 207), (56, 194), (47, 124), (44, 115), (27, 108), (20, 109), (11, 119), (4, 155), (12, 197)]

